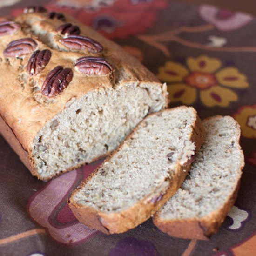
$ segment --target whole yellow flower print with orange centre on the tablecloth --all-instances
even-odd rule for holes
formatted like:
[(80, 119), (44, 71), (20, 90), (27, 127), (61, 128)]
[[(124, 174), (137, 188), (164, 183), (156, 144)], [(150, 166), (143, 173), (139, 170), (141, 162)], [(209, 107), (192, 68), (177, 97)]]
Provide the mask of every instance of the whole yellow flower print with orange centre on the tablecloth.
[(216, 58), (188, 57), (186, 67), (167, 61), (159, 68), (158, 78), (168, 83), (169, 98), (173, 102), (190, 105), (199, 94), (207, 107), (228, 107), (230, 102), (238, 100), (236, 92), (230, 88), (247, 88), (249, 84), (236, 67), (221, 67), (221, 61)]

